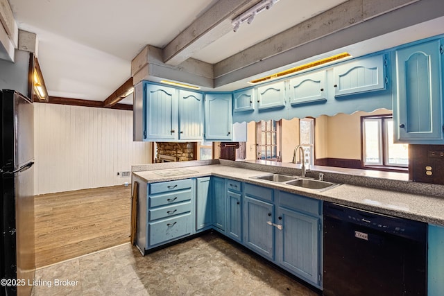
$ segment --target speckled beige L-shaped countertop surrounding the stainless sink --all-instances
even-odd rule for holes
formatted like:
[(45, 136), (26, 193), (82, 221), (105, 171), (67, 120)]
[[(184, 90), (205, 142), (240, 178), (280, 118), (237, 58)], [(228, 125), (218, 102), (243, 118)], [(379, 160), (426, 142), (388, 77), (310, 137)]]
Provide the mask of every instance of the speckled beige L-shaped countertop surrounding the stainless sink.
[[(183, 174), (175, 175), (179, 168), (185, 168), (185, 171)], [(171, 171), (171, 174), (167, 170)], [(387, 178), (386, 176), (366, 176), (362, 173), (350, 175), (342, 171), (311, 171), (307, 176), (317, 177), (320, 172), (324, 173), (326, 181), (341, 185), (326, 191), (316, 191), (252, 178), (266, 173), (300, 175), (300, 169), (296, 168), (294, 164), (293, 167), (273, 166), (257, 162), (230, 162), (221, 159), (220, 162), (185, 162), (182, 164), (176, 162), (133, 166), (133, 175), (147, 183), (214, 175), (375, 211), (380, 214), (444, 226), (443, 185), (409, 182), (403, 175), (398, 177), (392, 175), (390, 176), (392, 178)]]

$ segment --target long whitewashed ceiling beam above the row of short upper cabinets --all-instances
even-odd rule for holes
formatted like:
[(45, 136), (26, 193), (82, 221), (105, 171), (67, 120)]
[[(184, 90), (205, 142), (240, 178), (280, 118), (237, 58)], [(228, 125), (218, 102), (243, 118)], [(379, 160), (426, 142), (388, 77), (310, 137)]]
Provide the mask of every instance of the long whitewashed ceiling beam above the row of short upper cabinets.
[[(381, 17), (387, 12), (391, 12), (403, 6), (407, 6), (411, 3), (422, 3), (427, 0), (349, 0), (346, 1), (339, 6), (336, 6), (330, 10), (322, 12), (311, 19), (307, 19), (307, 21), (303, 21), (302, 23), (289, 28), (287, 31), (284, 31), (278, 35), (274, 35), (273, 37), (268, 38), (250, 48), (241, 51), (235, 55), (214, 64), (214, 78), (218, 80), (222, 76), (230, 76), (230, 73), (234, 71), (239, 71), (243, 68), (249, 67), (250, 65), (260, 63), (262, 66), (257, 68), (261, 68), (261, 72), (269, 71), (276, 69), (278, 67), (284, 67), (287, 64), (291, 64), (294, 62), (298, 62), (298, 60), (302, 60), (303, 58), (311, 58), (315, 55), (326, 53), (332, 49), (326, 50), (328, 46), (331, 44), (318, 44), (318, 47), (315, 51), (309, 53), (309, 56), (304, 56), (303, 58), (296, 51), (296, 56), (293, 56), (291, 60), (282, 60), (283, 63), (286, 64), (271, 64), (266, 62), (266, 60), (276, 57), (277, 55), (282, 55), (287, 51), (291, 51), (293, 49), (298, 49), (300, 46), (308, 44), (309, 42), (314, 42), (316, 40), (321, 39), (322, 37), (334, 35), (340, 31), (343, 31), (347, 28), (352, 28), (357, 26), (358, 24), (365, 23), (369, 19), (373, 19), (375, 17)], [(436, 1), (436, 0), (432, 0)], [(441, 0), (442, 1), (442, 0)], [(393, 19), (393, 24), (404, 20), (402, 15), (401, 19)], [(374, 26), (375, 24), (372, 24)], [(384, 31), (393, 31), (394, 26), (386, 26)], [(371, 28), (370, 26), (366, 28), (366, 26), (360, 26), (359, 34), (360, 36), (356, 36), (359, 38), (353, 39), (340, 39), (336, 40), (332, 44), (337, 48), (347, 46), (350, 44), (354, 44), (358, 41), (367, 40), (370, 37), (376, 37), (373, 33), (375, 28)], [(338, 46), (339, 45), (339, 46)], [(292, 51), (292, 54), (295, 52)], [(277, 60), (273, 59), (273, 60)], [(257, 75), (261, 72), (250, 73), (250, 76)], [(243, 77), (246, 78), (246, 77)], [(225, 79), (226, 80), (226, 79)], [(239, 77), (235, 77), (234, 79), (229, 78), (226, 81), (234, 82), (234, 80), (239, 80)], [(225, 82), (224, 82), (225, 83)], [(219, 82), (214, 83), (215, 87), (221, 85), (221, 79)]]

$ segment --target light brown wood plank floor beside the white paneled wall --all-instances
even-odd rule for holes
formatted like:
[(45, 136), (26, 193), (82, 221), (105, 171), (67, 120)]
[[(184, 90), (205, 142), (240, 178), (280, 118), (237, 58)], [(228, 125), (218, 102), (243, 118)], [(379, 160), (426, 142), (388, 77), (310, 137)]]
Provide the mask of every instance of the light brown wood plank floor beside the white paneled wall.
[(130, 186), (35, 197), (37, 268), (130, 241)]

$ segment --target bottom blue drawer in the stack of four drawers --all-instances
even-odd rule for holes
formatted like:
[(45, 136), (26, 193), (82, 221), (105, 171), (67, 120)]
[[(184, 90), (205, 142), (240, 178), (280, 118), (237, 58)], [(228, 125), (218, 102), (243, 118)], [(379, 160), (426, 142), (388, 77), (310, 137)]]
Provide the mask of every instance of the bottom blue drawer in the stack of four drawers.
[(157, 245), (173, 238), (191, 234), (191, 213), (148, 224), (149, 245)]

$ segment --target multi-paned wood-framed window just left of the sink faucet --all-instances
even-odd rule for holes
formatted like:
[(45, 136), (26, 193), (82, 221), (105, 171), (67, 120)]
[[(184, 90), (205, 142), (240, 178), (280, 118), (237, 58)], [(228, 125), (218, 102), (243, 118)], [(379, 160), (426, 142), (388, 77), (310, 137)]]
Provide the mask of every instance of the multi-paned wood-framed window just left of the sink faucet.
[(280, 162), (280, 121), (259, 121), (256, 131), (256, 158)]

